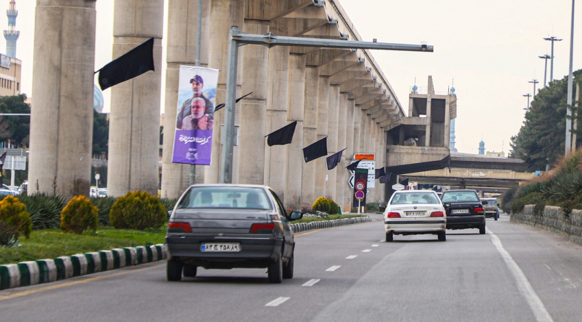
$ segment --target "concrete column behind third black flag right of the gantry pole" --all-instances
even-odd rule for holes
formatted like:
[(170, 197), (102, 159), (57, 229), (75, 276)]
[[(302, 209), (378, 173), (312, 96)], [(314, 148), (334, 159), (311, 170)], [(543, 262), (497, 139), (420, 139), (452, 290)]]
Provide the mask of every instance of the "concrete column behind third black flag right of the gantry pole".
[[(337, 121), (339, 112), (339, 86), (330, 85), (329, 92), (329, 111), (328, 111), (328, 156), (337, 152)], [(322, 158), (326, 162), (326, 158)], [(337, 172), (335, 169), (328, 171), (326, 166), (326, 173), (328, 175), (328, 181), (326, 182), (326, 196), (331, 198), (333, 201), (337, 200), (336, 185), (337, 185)]]

